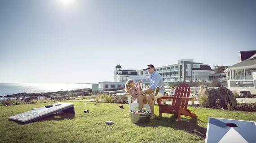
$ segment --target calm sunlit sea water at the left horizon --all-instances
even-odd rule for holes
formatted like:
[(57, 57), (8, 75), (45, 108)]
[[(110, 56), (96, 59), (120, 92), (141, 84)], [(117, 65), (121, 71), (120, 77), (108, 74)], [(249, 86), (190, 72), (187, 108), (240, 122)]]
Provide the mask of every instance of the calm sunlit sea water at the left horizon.
[(1, 84), (0, 96), (16, 93), (45, 93), (74, 89), (92, 88), (92, 84)]

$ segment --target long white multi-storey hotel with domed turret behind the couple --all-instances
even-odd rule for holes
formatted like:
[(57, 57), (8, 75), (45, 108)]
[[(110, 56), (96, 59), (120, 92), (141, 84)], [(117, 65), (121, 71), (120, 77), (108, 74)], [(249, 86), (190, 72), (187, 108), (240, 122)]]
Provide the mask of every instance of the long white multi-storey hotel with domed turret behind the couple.
[[(210, 65), (194, 63), (193, 59), (180, 59), (176, 64), (163, 67), (154, 66), (155, 71), (163, 76), (165, 82), (192, 80), (209, 81), (215, 73)], [(128, 79), (133, 79), (137, 82), (148, 75), (146, 69), (126, 70), (122, 69), (120, 65), (117, 65), (114, 71), (114, 82), (126, 82)]]

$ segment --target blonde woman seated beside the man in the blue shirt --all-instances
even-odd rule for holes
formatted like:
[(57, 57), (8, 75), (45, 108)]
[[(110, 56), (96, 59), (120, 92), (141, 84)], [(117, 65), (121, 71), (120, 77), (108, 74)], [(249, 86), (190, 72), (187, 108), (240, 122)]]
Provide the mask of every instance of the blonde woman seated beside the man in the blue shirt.
[[(147, 104), (148, 101), (146, 100), (146, 94), (141, 95), (141, 87), (136, 87), (138, 83), (135, 84), (134, 80), (128, 80), (125, 84), (125, 93), (123, 96), (131, 95), (132, 96), (132, 102), (137, 100), (137, 103), (139, 103), (139, 110), (142, 110), (143, 104)], [(140, 102), (143, 101), (143, 102)]]

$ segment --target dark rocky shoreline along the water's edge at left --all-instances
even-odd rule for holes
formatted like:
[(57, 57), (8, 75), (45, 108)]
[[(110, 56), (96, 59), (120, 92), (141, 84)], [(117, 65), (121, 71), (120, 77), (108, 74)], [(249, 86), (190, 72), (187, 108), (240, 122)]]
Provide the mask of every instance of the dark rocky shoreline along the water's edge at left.
[[(75, 89), (75, 90), (66, 90), (62, 91), (62, 95), (69, 95), (69, 94), (74, 94), (74, 93), (90, 93), (92, 91), (91, 88), (83, 88), (83, 89)], [(46, 96), (56, 96), (60, 95), (61, 91), (57, 92), (47, 92), (47, 93), (17, 93), (17, 94), (11, 94), (11, 95), (6, 95), (6, 96), (0, 96), (0, 97), (8, 97), (8, 98), (13, 98), (13, 97), (46, 97)]]

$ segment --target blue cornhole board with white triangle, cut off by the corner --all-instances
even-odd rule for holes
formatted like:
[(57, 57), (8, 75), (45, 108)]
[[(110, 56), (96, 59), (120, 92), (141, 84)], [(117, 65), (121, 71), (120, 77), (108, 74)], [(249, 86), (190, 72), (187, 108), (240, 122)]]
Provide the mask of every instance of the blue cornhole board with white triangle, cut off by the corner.
[(256, 143), (256, 122), (209, 118), (205, 143)]

